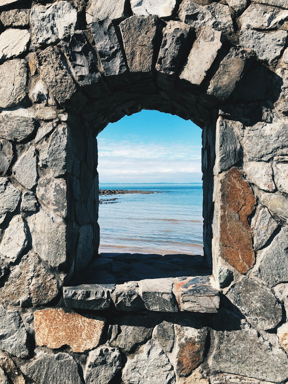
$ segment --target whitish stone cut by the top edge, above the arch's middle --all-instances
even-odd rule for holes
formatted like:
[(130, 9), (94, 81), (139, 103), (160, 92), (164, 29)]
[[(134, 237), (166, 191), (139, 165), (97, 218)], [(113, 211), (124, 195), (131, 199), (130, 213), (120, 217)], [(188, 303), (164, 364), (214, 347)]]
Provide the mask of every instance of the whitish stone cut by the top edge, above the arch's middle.
[(135, 15), (157, 15), (169, 17), (176, 6), (176, 0), (131, 0), (132, 12)]

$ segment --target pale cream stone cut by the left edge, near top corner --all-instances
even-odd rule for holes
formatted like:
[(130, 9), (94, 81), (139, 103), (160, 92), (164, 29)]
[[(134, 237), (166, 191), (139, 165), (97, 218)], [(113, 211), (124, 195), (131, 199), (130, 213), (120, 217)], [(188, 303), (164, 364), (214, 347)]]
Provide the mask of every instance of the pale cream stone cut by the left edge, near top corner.
[(0, 34), (0, 60), (20, 56), (27, 50), (30, 33), (25, 29), (10, 28)]

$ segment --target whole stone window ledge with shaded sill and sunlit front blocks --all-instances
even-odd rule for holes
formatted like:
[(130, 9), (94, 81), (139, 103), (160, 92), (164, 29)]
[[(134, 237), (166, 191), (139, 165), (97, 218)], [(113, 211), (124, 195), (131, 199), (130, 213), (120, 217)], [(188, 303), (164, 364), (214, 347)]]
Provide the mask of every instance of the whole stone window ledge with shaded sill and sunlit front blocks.
[[(200, 313), (219, 308), (219, 292), (201, 256), (102, 254), (87, 270), (63, 288), (67, 307)], [(190, 276), (181, 276), (184, 271)]]

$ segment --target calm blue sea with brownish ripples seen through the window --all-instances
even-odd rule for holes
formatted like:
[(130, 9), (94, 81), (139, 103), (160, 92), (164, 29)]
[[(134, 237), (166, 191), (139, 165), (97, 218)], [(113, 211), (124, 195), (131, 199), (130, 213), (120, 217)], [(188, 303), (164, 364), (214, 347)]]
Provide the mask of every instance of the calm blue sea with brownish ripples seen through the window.
[(202, 184), (99, 184), (99, 189), (151, 190), (99, 205), (101, 252), (203, 255)]

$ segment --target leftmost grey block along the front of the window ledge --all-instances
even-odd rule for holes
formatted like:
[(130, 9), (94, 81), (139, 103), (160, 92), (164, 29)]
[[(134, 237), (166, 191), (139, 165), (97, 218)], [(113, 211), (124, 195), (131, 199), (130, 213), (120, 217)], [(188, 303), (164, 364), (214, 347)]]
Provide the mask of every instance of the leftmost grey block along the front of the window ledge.
[(63, 297), (66, 306), (90, 310), (109, 308), (113, 284), (82, 284), (75, 287), (64, 287)]

